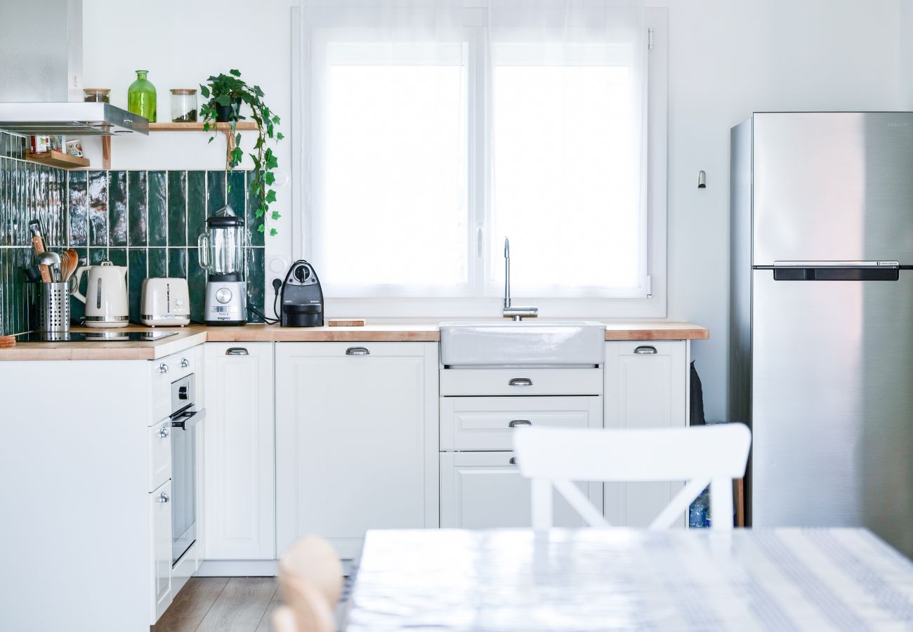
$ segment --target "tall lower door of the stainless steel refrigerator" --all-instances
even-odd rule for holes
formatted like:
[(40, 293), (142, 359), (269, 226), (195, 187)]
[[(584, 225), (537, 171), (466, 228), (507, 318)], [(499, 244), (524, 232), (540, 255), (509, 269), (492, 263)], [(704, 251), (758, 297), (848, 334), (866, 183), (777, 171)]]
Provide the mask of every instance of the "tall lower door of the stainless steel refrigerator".
[(866, 526), (913, 555), (913, 270), (752, 275), (752, 524)]

